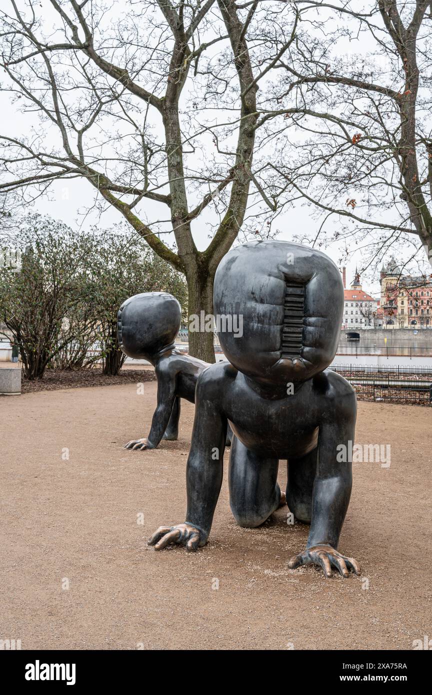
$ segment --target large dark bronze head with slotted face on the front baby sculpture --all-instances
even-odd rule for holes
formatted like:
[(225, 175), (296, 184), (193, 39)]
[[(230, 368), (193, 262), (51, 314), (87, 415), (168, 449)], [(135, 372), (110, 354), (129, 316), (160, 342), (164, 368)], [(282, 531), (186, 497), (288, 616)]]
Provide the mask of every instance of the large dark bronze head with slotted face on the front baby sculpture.
[(237, 316), (237, 324), (242, 317), (241, 335), (218, 335), (236, 369), (263, 382), (304, 382), (333, 361), (344, 289), (322, 252), (288, 241), (253, 242), (219, 263), (214, 306), (217, 316)]

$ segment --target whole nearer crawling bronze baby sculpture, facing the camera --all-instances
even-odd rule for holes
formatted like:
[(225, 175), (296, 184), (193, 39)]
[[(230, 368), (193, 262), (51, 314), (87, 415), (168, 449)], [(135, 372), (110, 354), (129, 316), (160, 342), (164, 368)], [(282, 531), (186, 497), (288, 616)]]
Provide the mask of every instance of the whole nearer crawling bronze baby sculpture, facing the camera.
[[(338, 347), (344, 291), (338, 268), (322, 252), (284, 241), (247, 243), (217, 268), (215, 313), (242, 315), (243, 335), (219, 334), (231, 363), (199, 377), (186, 471), (185, 522), (161, 526), (149, 540), (157, 550), (179, 543), (204, 546), (222, 484), (227, 423), (231, 510), (255, 528), (279, 506), (279, 459), (288, 460), (286, 499), (310, 524), (306, 549), (288, 566), (317, 564), (327, 577), (360, 568), (338, 553), (351, 494), (351, 462), (338, 445), (354, 441), (356, 395), (326, 370)], [(346, 449), (347, 450), (347, 449)]]

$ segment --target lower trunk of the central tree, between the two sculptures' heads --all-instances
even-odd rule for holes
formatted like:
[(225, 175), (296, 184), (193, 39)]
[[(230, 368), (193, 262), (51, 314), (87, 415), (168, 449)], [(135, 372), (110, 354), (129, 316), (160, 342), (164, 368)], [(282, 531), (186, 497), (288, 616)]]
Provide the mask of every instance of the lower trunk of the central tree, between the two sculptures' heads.
[[(208, 327), (209, 322), (206, 322), (205, 318), (209, 314), (213, 316), (214, 275), (207, 270), (200, 272), (194, 269), (188, 273), (187, 279), (189, 288), (189, 354), (213, 364), (215, 362), (214, 333), (213, 330), (206, 330), (206, 325)], [(194, 320), (195, 317), (197, 320)], [(194, 324), (199, 325), (199, 330), (194, 329)]]

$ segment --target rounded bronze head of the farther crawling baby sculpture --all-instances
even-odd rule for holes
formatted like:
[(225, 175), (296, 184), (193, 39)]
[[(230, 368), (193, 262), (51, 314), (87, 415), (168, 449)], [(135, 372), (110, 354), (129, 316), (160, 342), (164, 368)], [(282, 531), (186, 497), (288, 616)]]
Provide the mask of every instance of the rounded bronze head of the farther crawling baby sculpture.
[(181, 324), (181, 306), (167, 292), (129, 297), (117, 314), (117, 336), (124, 354), (151, 359), (172, 347)]

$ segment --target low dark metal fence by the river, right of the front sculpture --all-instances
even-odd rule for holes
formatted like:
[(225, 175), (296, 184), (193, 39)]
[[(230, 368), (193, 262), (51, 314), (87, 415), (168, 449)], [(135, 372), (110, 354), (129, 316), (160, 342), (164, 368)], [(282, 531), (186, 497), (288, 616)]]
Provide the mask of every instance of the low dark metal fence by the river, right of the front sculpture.
[(330, 369), (354, 387), (360, 400), (432, 404), (431, 367), (359, 366), (338, 364)]

